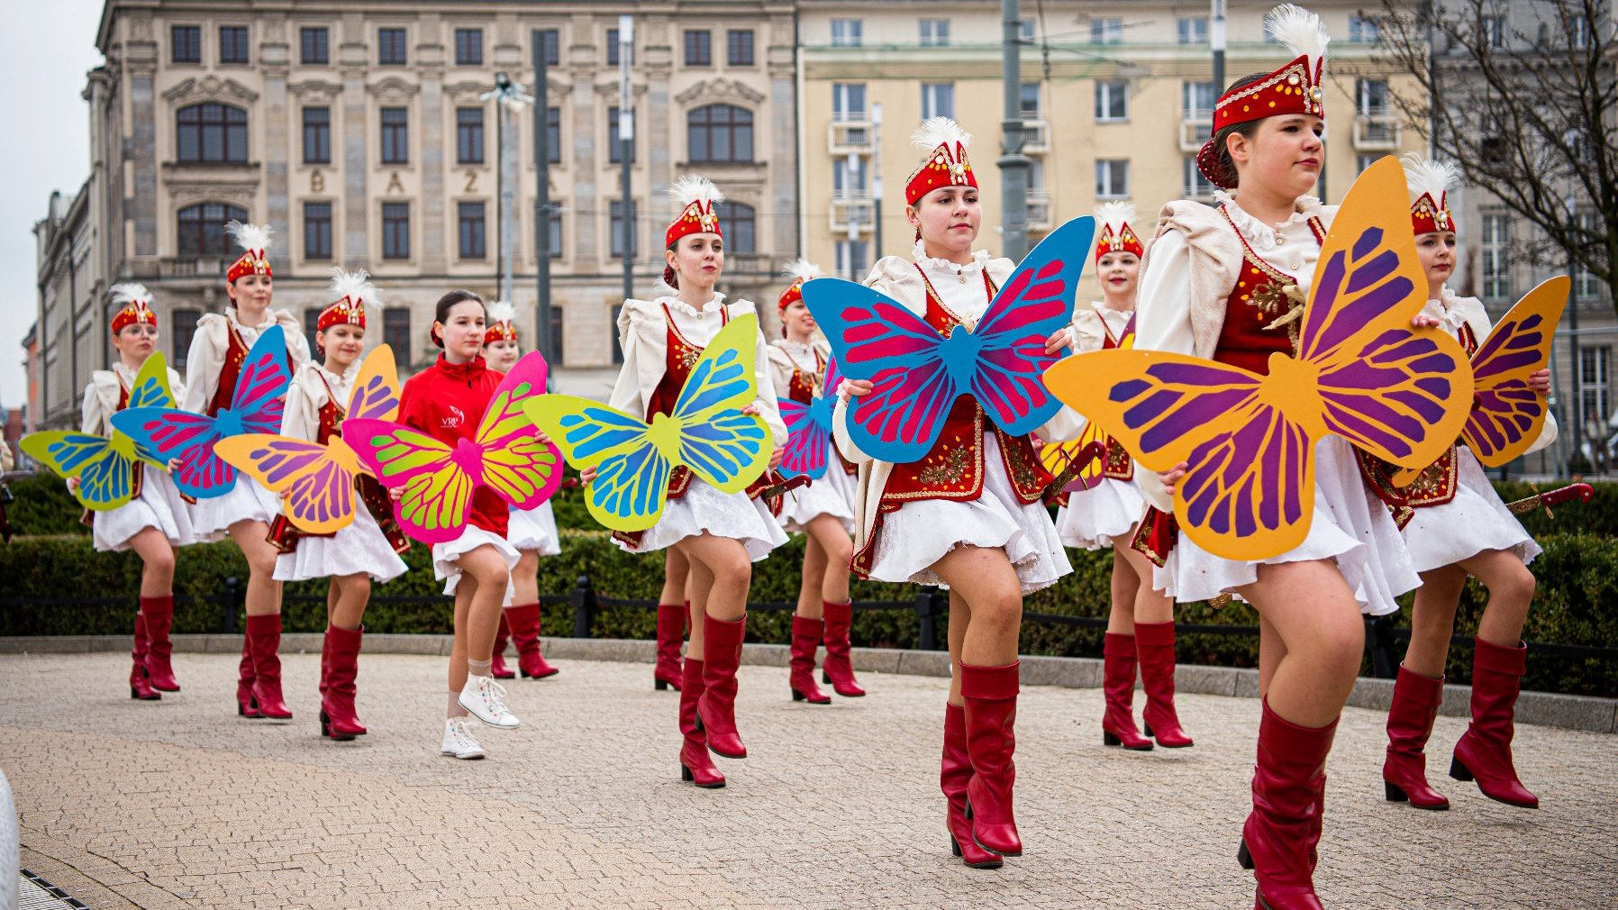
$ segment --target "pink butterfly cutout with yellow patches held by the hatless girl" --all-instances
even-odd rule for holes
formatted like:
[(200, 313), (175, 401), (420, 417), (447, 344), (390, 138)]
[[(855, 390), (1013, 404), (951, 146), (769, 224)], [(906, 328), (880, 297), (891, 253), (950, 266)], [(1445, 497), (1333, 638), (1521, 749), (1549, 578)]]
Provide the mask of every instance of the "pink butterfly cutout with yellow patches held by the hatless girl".
[(561, 453), (539, 442), (523, 403), (545, 392), (545, 358), (529, 351), (505, 376), (472, 439), (438, 442), (419, 429), (374, 418), (343, 421), (343, 440), (385, 487), (400, 528), (424, 544), (460, 538), (472, 491), (487, 486), (516, 508), (536, 508), (561, 486)]

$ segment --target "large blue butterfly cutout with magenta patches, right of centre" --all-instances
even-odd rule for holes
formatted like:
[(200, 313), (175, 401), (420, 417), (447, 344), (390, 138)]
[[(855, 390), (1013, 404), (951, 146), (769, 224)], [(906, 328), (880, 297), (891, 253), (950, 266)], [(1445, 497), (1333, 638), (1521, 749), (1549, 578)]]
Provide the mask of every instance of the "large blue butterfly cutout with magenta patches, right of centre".
[(948, 335), (864, 285), (804, 282), (804, 303), (843, 374), (875, 385), (849, 402), (854, 445), (883, 461), (921, 460), (961, 395), (977, 398), (1013, 436), (1055, 416), (1061, 402), (1045, 390), (1044, 372), (1057, 358), (1045, 355), (1045, 338), (1073, 317), (1074, 285), (1094, 235), (1089, 215), (1058, 227), (1016, 267), (976, 325)]

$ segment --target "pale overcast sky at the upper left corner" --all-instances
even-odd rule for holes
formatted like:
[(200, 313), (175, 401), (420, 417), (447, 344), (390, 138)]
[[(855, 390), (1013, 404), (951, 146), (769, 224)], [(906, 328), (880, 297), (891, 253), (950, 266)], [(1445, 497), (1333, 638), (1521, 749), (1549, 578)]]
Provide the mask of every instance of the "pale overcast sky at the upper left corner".
[(50, 191), (73, 196), (89, 176), (84, 74), (100, 65), (95, 26), (102, 0), (0, 0), (0, 405), (28, 397), (23, 335), (39, 313), (34, 222)]

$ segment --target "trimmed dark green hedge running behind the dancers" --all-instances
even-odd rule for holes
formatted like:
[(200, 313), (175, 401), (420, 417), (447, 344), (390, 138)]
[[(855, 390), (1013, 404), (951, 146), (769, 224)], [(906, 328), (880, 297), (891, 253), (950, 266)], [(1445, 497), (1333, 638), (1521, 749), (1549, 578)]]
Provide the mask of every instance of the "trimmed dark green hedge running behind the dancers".
[[(1618, 641), (1618, 541), (1597, 534), (1552, 534), (1540, 539), (1545, 554), (1534, 563), (1539, 591), (1529, 612), (1524, 636), (1531, 641), (1555, 641), (1610, 648)], [(539, 589), (549, 594), (570, 593), (581, 575), (591, 578), (602, 597), (650, 599), (662, 588), (660, 555), (636, 557), (616, 549), (600, 531), (561, 531), (563, 554), (539, 562)], [(427, 547), (414, 546), (406, 554), (413, 572), (375, 588), (375, 596), (435, 596), (440, 585), (432, 578)], [(754, 602), (793, 602), (798, 596), (803, 539), (793, 541), (770, 559), (754, 563)], [(1069, 551), (1074, 573), (1053, 588), (1027, 597), (1026, 610), (1105, 617), (1110, 591), (1110, 555)], [(3, 597), (71, 599), (104, 597), (128, 593), (120, 606), (23, 604), (0, 607), (0, 635), (91, 635), (128, 630), (134, 591), (139, 586), (139, 560), (133, 554), (97, 554), (83, 536), (19, 538), (0, 547)], [(178, 594), (212, 596), (225, 589), (225, 580), (246, 580), (246, 565), (231, 544), (199, 544), (180, 551), (175, 575)], [(288, 594), (316, 596), (314, 602), (288, 602), (286, 628), (319, 631), (325, 619), (325, 585), (320, 581), (286, 586)], [(858, 601), (914, 602), (917, 588), (911, 585), (854, 585)], [(1484, 589), (1474, 581), (1463, 599), (1456, 628), (1469, 633), (1485, 602)], [(1400, 625), (1409, 623), (1409, 597)], [(434, 597), (421, 604), (374, 602), (366, 614), (372, 631), (448, 633), (448, 601)], [(222, 623), (222, 606), (210, 601), (183, 604), (176, 609), (176, 631), (215, 631)], [(790, 614), (756, 610), (748, 625), (749, 641), (786, 641)], [(1214, 610), (1207, 604), (1181, 604), (1176, 619), (1189, 625), (1254, 625), (1254, 612), (1244, 604)], [(550, 635), (573, 633), (573, 609), (550, 604), (544, 610)], [(238, 625), (239, 628), (239, 625)], [(594, 617), (591, 635), (597, 638), (652, 638), (655, 614), (644, 607), (602, 606)], [(854, 623), (856, 644), (877, 648), (914, 648), (919, 619), (914, 610), (862, 610)], [(940, 617), (938, 635), (943, 635)], [(1057, 623), (1026, 622), (1021, 651), (1026, 654), (1099, 656), (1102, 630)], [(1188, 664), (1252, 667), (1257, 638), (1251, 635), (1183, 635), (1180, 659)], [(1366, 670), (1369, 674), (1369, 667)], [(1458, 646), (1450, 657), (1450, 678), (1469, 682), (1471, 648)], [(1618, 696), (1618, 662), (1610, 659), (1569, 659), (1534, 654), (1529, 657), (1527, 687), (1540, 691)]]

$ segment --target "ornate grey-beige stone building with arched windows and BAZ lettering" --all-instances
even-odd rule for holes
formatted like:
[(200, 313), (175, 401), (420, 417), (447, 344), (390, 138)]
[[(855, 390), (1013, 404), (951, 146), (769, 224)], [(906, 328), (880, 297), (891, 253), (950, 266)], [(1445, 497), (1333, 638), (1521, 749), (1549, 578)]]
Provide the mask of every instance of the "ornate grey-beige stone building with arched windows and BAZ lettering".
[(437, 298), (498, 293), (500, 115), (484, 94), (497, 73), (532, 86), (536, 42), (549, 97), (508, 125), (519, 332), (534, 338), (537, 110), (557, 350), (565, 368), (610, 368), (623, 300), (620, 13), (634, 16), (636, 293), (655, 293), (667, 189), (689, 172), (730, 196), (720, 290), (772, 301), (778, 262), (798, 253), (790, 2), (108, 0), (95, 36), (107, 62), (84, 92), (91, 178), (36, 228), (39, 424), (76, 423), (89, 371), (110, 358), (100, 311), (113, 282), (155, 293), (162, 347), (183, 359), (196, 317), (225, 304), (230, 219), (275, 228), (277, 306), (312, 325), (332, 267), (369, 269), (385, 303), (371, 335), (401, 363), (430, 361)]

